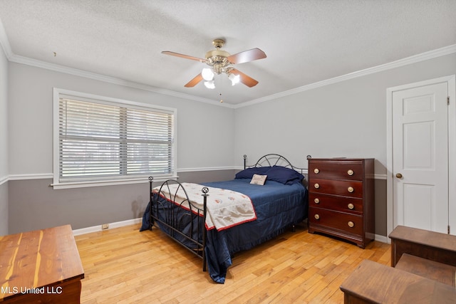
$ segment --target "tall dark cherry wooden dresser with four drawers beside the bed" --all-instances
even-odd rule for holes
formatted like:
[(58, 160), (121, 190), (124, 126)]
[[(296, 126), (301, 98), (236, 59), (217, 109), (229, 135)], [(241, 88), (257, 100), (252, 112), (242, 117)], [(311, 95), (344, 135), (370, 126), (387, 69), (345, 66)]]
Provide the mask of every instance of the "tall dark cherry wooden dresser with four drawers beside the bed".
[(309, 158), (309, 232), (356, 243), (374, 239), (374, 159)]

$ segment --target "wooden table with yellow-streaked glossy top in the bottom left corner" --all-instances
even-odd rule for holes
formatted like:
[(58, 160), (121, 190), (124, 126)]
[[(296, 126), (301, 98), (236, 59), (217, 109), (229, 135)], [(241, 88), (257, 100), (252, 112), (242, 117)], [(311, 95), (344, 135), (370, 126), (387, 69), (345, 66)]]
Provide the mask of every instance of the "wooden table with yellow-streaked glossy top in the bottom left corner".
[(80, 303), (83, 278), (70, 225), (0, 236), (0, 303)]

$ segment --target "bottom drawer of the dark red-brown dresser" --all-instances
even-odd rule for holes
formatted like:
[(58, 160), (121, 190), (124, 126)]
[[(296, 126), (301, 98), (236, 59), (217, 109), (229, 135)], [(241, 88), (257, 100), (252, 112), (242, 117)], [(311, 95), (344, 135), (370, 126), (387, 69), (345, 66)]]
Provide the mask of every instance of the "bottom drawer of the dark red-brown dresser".
[(363, 234), (363, 216), (338, 211), (310, 207), (309, 224), (326, 226), (358, 236)]

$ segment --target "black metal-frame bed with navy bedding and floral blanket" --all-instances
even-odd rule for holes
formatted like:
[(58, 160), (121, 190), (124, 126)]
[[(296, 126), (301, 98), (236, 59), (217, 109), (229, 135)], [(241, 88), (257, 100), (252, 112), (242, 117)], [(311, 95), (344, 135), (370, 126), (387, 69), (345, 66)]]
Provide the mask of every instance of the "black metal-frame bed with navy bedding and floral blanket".
[[(169, 179), (152, 187), (140, 231), (159, 227), (202, 258), (214, 282), (224, 283), (232, 256), (293, 229), (307, 218), (303, 169), (266, 154), (234, 179), (203, 184)], [(229, 203), (229, 204), (228, 204)]]

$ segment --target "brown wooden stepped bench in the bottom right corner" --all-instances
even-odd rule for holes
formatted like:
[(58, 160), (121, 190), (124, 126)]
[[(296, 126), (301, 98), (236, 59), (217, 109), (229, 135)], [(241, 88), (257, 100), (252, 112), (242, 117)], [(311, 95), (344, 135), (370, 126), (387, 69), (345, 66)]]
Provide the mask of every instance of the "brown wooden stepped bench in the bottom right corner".
[(398, 226), (390, 239), (392, 267), (363, 261), (344, 303), (456, 303), (456, 236)]

